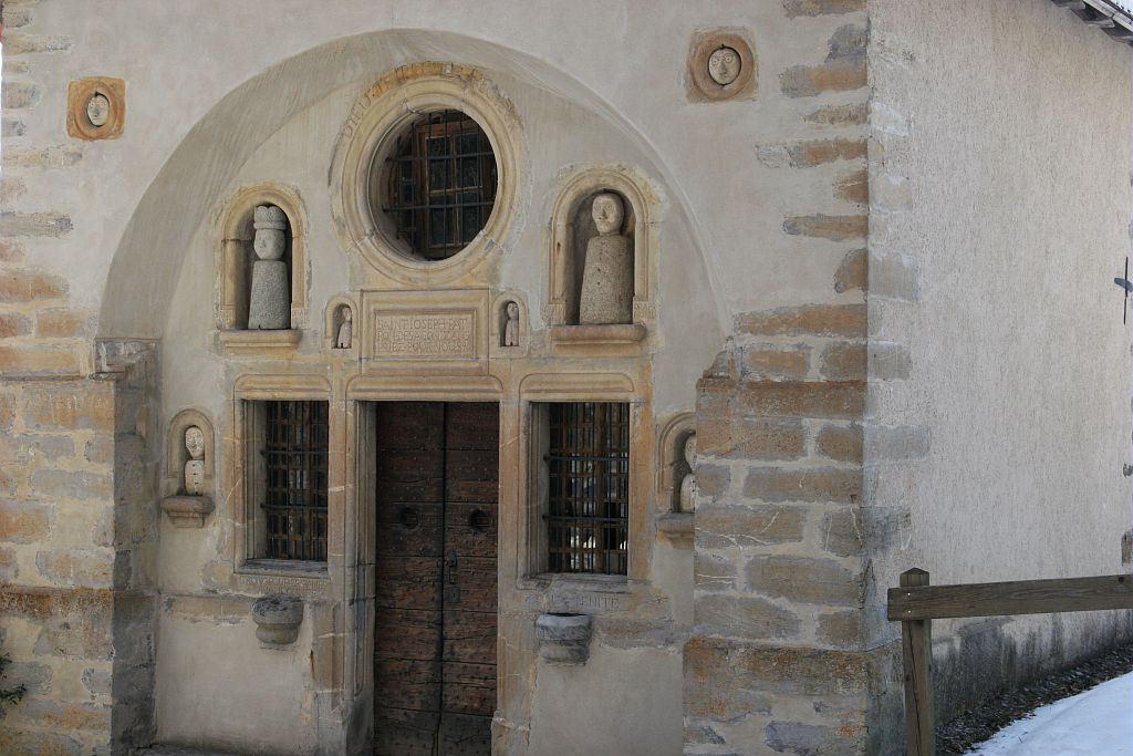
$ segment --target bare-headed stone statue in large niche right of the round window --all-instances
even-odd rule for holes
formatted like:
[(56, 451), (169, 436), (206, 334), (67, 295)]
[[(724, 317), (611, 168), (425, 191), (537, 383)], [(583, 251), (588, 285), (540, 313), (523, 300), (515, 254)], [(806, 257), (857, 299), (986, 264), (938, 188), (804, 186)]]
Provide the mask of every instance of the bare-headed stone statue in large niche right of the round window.
[(633, 320), (633, 249), (622, 236), (625, 210), (613, 193), (599, 194), (591, 209), (598, 236), (586, 245), (579, 324), (630, 323)]

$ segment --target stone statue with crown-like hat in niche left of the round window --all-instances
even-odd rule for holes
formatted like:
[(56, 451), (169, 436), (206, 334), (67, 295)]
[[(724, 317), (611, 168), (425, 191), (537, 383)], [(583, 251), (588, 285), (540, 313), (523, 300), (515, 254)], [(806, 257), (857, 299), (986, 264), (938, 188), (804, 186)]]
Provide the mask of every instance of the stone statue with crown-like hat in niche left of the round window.
[(278, 331), (290, 328), (291, 277), (283, 260), (287, 215), (275, 205), (259, 205), (253, 224), (256, 229), (253, 248), (258, 260), (252, 265), (248, 329)]

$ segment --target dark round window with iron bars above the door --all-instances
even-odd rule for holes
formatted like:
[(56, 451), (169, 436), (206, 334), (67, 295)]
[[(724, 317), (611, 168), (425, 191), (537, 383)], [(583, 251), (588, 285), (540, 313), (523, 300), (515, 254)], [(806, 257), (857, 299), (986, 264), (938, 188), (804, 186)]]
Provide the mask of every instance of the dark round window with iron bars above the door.
[(370, 201), (414, 257), (452, 257), (484, 230), (495, 207), (499, 169), (480, 126), (459, 110), (404, 125), (375, 155)]

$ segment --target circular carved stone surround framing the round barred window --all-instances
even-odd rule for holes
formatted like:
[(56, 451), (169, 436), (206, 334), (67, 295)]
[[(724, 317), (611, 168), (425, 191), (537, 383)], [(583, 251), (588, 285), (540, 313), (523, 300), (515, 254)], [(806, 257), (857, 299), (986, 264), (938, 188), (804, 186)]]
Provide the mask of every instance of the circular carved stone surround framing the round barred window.
[[(426, 261), (395, 238), (392, 219), (375, 218), (370, 168), (393, 151), (406, 127), (437, 110), (459, 110), (484, 129), (496, 158), (497, 186), (495, 206), (476, 238), (451, 257)], [(415, 63), (390, 71), (355, 101), (339, 135), (330, 190), (342, 244), (357, 248), (372, 266), (401, 283), (435, 286), (465, 275), (500, 247), (510, 227), (520, 138), (514, 108), (479, 70)]]

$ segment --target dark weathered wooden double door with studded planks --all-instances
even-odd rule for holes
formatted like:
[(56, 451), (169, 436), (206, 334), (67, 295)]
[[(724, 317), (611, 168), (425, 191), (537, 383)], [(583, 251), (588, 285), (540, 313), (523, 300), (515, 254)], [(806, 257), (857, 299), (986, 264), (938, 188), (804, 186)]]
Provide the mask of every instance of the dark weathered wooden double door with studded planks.
[(500, 408), (377, 405), (374, 753), (491, 754)]

